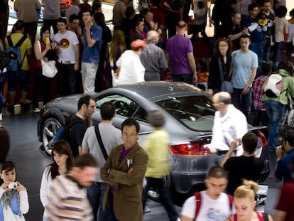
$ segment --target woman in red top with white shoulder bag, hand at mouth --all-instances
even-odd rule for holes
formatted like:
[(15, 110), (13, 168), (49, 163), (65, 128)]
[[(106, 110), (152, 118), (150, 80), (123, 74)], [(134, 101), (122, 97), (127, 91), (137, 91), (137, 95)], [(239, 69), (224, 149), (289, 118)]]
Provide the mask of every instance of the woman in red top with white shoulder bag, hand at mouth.
[(38, 101), (40, 90), (43, 85), (43, 104), (49, 101), (51, 78), (42, 75), (42, 65), (40, 60), (45, 62), (55, 59), (55, 45), (50, 39), (50, 30), (43, 26), (40, 28), (40, 40), (36, 41), (34, 46), (36, 64), (35, 64), (35, 83), (33, 88), (33, 112), (38, 113)]

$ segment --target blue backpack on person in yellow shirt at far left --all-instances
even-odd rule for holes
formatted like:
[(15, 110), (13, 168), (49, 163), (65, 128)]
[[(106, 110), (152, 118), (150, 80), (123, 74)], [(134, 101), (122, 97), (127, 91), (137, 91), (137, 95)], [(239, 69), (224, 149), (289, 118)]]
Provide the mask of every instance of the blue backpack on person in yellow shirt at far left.
[(7, 36), (7, 41), (9, 43), (9, 48), (7, 48), (6, 53), (9, 55), (10, 63), (7, 65), (8, 71), (18, 71), (21, 70), (21, 65), (23, 65), (23, 60), (26, 56), (26, 52), (23, 55), (23, 58), (21, 59), (21, 45), (23, 44), (23, 41), (26, 40), (26, 36), (23, 36), (21, 40), (16, 43), (16, 45), (13, 45), (11, 36)]

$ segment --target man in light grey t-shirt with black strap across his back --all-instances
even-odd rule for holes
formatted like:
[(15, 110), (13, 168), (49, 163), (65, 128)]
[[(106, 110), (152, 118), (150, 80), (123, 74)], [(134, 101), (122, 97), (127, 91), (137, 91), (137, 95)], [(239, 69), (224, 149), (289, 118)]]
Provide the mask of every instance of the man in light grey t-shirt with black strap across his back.
[[(102, 139), (102, 144), (108, 156), (111, 149), (119, 144), (123, 144), (121, 139), (121, 131), (112, 125), (115, 117), (115, 105), (112, 102), (104, 102), (100, 107), (100, 114), (102, 121), (96, 126), (90, 126), (82, 141), (82, 153), (91, 153), (98, 163), (98, 173), (94, 180), (94, 183), (87, 188), (87, 198), (92, 205), (94, 220), (97, 220), (97, 211), (99, 220), (106, 220), (104, 212), (102, 210), (102, 200), (104, 196), (104, 188), (106, 183), (100, 178), (100, 169), (105, 163), (104, 153), (102, 147), (99, 145), (99, 141), (96, 136), (97, 126)], [(100, 208), (99, 208), (100, 206)], [(107, 213), (107, 212), (106, 212)]]

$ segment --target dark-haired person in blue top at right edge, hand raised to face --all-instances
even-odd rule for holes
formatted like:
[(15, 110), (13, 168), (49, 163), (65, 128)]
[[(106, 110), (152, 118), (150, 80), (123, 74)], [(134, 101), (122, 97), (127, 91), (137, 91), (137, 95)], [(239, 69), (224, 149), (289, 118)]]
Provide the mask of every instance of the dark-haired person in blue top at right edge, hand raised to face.
[(283, 180), (284, 183), (292, 180), (290, 168), (292, 159), (294, 157), (294, 129), (285, 132), (283, 146), (276, 148), (277, 166), (273, 180), (279, 182)]

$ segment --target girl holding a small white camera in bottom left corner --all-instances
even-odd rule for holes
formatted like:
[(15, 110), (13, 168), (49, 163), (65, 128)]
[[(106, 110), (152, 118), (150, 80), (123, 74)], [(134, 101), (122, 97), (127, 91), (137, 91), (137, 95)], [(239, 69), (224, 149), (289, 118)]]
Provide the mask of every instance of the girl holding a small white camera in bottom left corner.
[(25, 220), (28, 212), (28, 193), (16, 181), (16, 165), (11, 161), (1, 163), (0, 220)]

